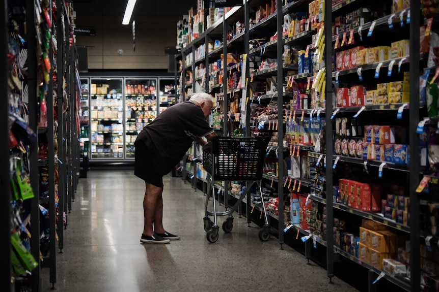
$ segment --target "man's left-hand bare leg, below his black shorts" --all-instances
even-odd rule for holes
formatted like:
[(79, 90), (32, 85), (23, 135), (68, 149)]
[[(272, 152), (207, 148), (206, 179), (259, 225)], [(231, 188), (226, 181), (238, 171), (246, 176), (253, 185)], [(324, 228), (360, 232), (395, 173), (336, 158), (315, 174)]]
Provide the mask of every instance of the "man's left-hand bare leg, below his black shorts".
[[(163, 199), (161, 198), (161, 192), (163, 191), (163, 187), (158, 187), (149, 182), (146, 182), (145, 188), (145, 198), (143, 199), (143, 212), (145, 218), (143, 234), (146, 236), (152, 236), (154, 234), (153, 223), (155, 218), (155, 212), (157, 210), (157, 203), (161, 202), (161, 208), (163, 207)], [(163, 211), (160, 209), (158, 213), (160, 213), (162, 216)], [(163, 228), (163, 226), (161, 226), (161, 228)]]

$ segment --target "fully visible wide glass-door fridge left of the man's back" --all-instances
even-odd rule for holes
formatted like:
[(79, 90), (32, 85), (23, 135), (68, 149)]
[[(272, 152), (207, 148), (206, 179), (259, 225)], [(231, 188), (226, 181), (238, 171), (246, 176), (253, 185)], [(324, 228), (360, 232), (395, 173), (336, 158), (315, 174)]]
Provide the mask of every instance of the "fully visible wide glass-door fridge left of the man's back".
[(123, 159), (123, 79), (90, 79), (91, 158)]

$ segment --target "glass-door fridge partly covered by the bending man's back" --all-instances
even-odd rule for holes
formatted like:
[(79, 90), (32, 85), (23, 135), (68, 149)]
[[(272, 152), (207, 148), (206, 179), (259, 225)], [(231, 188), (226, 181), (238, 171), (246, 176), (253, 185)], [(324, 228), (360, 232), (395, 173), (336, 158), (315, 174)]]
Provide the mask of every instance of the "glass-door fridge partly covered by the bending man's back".
[(125, 158), (134, 158), (134, 141), (158, 114), (156, 78), (125, 79)]

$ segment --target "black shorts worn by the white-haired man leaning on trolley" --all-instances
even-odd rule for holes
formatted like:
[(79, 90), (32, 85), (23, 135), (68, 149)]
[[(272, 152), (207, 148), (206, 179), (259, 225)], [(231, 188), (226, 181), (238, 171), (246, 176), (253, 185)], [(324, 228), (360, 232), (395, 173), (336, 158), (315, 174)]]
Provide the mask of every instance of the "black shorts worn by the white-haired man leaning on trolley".
[(157, 172), (157, 167), (151, 159), (152, 154), (141, 140), (134, 143), (135, 146), (135, 160), (134, 160), (134, 175), (149, 182), (155, 186), (163, 187), (163, 175)]

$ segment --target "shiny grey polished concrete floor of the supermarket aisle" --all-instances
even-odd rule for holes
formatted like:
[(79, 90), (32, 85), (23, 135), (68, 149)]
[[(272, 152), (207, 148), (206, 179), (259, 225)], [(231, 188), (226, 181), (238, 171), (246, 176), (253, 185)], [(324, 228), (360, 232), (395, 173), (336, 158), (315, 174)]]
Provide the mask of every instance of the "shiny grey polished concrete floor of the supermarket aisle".
[[(132, 171), (89, 172), (80, 179), (57, 254), (58, 291), (356, 291), (278, 239), (235, 218), (209, 243), (203, 229), (204, 194), (181, 178), (164, 181), (164, 227), (181, 236), (170, 244), (141, 244), (144, 183)], [(237, 216), (236, 216), (237, 217)], [(219, 217), (221, 223), (224, 217)], [(41, 273), (51, 291), (49, 270)]]

